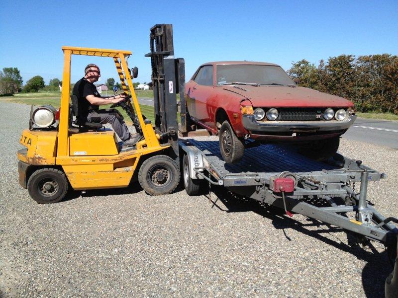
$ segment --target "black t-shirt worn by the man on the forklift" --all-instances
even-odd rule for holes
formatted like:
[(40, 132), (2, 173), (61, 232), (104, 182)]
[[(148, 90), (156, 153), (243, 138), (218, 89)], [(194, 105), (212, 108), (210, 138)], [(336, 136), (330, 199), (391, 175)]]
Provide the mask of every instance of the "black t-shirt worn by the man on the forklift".
[(72, 91), (73, 95), (78, 97), (79, 101), (79, 108), (78, 108), (78, 119), (83, 122), (87, 122), (87, 115), (90, 111), (98, 110), (99, 106), (95, 104), (91, 104), (87, 99), (86, 96), (94, 95), (96, 97), (101, 97), (97, 91), (96, 86), (87, 81), (84, 77), (78, 80), (73, 87)]

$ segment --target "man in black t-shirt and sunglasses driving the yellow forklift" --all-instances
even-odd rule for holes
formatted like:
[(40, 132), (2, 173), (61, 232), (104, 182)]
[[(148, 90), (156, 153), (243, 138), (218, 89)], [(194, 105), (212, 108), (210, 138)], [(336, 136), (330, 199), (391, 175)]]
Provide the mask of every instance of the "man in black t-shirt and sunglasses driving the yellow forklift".
[(94, 82), (100, 78), (100, 68), (89, 64), (85, 68), (85, 76), (78, 80), (73, 87), (73, 95), (78, 98), (78, 123), (110, 123), (112, 129), (123, 142), (123, 146), (134, 146), (141, 138), (140, 134), (131, 135), (123, 116), (116, 109), (99, 109), (100, 105), (118, 103), (125, 98), (125, 94), (101, 97)]

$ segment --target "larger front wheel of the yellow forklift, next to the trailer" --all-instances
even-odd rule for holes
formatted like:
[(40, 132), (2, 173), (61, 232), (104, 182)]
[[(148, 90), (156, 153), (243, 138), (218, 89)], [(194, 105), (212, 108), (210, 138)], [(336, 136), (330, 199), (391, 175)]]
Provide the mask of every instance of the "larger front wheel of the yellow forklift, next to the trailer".
[(180, 169), (169, 156), (155, 155), (142, 163), (138, 182), (149, 195), (170, 194), (180, 182)]

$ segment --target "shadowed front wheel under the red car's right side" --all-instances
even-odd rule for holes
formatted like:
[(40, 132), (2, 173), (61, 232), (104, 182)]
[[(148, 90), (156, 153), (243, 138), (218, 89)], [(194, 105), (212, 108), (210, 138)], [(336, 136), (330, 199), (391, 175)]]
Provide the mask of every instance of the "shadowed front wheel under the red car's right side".
[(326, 161), (332, 157), (339, 148), (340, 137), (319, 140), (309, 143), (305, 147), (299, 147), (299, 152), (317, 161)]

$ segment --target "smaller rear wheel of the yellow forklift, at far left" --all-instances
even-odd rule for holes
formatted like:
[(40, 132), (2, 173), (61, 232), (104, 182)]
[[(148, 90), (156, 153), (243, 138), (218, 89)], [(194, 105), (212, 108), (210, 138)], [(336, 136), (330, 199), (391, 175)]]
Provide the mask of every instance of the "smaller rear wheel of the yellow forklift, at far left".
[(54, 168), (36, 170), (29, 177), (28, 192), (39, 204), (57, 203), (68, 192), (68, 180), (65, 173)]

